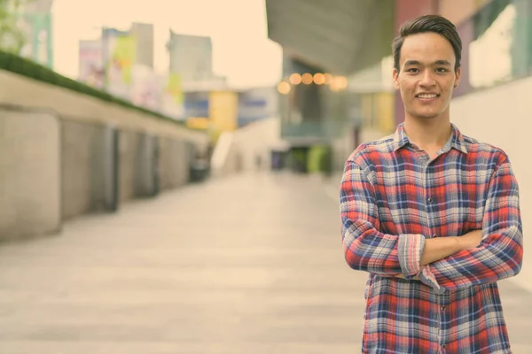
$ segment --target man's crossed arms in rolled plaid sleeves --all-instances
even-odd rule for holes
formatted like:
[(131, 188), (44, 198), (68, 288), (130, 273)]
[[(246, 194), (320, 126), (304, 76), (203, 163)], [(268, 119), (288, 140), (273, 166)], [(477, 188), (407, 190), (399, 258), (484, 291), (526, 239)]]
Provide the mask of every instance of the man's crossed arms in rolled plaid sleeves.
[(380, 276), (419, 279), (437, 293), (499, 281), (520, 272), (519, 188), (509, 162), (489, 181), (482, 229), (458, 237), (379, 232), (372, 183), (353, 161), (340, 188), (342, 242), (348, 265)]

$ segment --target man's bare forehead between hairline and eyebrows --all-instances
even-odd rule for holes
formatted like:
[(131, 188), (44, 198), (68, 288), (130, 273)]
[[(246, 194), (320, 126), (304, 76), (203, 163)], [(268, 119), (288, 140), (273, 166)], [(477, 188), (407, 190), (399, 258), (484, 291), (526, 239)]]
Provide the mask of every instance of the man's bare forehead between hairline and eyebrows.
[(401, 48), (401, 65), (406, 60), (417, 60), (421, 63), (447, 60), (455, 64), (455, 54), (450, 42), (435, 33), (409, 35), (404, 39)]

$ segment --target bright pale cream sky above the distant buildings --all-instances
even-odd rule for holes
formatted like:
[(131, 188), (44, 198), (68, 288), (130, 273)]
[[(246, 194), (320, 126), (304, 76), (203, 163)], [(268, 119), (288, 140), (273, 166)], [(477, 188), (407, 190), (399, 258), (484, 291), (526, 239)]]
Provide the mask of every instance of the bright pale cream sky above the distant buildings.
[(154, 66), (168, 69), (169, 28), (185, 35), (208, 35), (213, 42), (213, 70), (231, 85), (278, 82), (282, 51), (267, 36), (264, 0), (55, 0), (54, 69), (78, 73), (78, 41), (98, 38), (101, 27), (129, 29), (131, 22), (154, 26)]

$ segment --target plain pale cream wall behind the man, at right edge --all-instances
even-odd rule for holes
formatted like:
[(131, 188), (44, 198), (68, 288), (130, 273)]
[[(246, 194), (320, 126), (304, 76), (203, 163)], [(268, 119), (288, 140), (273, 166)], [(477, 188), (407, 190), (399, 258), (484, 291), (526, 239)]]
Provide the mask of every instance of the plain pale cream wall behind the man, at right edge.
[(520, 185), (520, 208), (525, 235), (525, 260), (516, 281), (532, 290), (532, 248), (527, 247), (532, 222), (532, 164), (530, 131), (532, 121), (532, 78), (514, 81), (497, 88), (460, 96), (451, 103), (451, 120), (462, 133), (505, 150)]

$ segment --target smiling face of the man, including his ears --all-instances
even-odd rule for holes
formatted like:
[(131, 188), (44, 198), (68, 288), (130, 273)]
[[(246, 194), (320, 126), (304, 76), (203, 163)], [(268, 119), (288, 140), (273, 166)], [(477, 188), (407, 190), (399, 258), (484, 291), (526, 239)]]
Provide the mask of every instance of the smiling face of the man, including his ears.
[(394, 81), (408, 116), (449, 117), (452, 90), (460, 81), (460, 68), (455, 72), (455, 62), (454, 50), (442, 35), (423, 33), (404, 39), (401, 70), (397, 73), (394, 69)]

